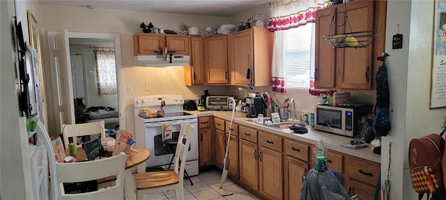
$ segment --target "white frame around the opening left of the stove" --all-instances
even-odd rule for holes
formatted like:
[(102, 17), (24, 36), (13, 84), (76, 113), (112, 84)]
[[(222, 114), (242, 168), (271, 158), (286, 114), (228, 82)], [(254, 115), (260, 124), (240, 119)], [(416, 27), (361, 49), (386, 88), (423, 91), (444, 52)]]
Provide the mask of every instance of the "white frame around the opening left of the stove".
[[(48, 46), (54, 47), (54, 37), (60, 33), (59, 31), (47, 31)], [(80, 32), (68, 32), (68, 38), (101, 38), (101, 39), (113, 39), (114, 40), (114, 52), (116, 60), (116, 81), (118, 85), (118, 105), (119, 105), (119, 129), (125, 129), (125, 106), (124, 106), (124, 89), (123, 89), (123, 74), (122, 74), (122, 60), (121, 60), (121, 38), (119, 33), (80, 33)], [(66, 52), (70, 56), (70, 52)], [(59, 71), (56, 67), (56, 59), (54, 58), (56, 53), (50, 54), (50, 64), (51, 64), (51, 74), (52, 74), (52, 85), (53, 85), (53, 101), (54, 101), (54, 115), (56, 115), (56, 131), (61, 131), (61, 121), (60, 118), (60, 104), (59, 98)], [(74, 116), (74, 113), (72, 113)], [(61, 132), (59, 132), (61, 133)]]

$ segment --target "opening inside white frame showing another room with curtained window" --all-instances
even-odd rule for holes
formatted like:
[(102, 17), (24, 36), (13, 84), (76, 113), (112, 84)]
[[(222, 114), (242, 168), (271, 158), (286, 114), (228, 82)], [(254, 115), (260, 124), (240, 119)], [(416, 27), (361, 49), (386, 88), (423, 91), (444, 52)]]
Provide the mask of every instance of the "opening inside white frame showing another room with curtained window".
[(118, 129), (114, 39), (68, 39), (76, 124), (104, 120), (105, 128)]

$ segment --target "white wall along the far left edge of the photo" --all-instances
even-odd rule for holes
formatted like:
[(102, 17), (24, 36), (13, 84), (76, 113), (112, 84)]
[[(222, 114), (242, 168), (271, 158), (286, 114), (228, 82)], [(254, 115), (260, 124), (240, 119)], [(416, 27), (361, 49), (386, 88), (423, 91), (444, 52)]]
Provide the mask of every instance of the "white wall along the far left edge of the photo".
[(1, 10), (1, 92), (0, 95), (0, 194), (1, 199), (33, 199), (26, 118), (20, 115), (19, 85), (16, 83), (17, 47), (13, 17), (22, 22), (24, 40), (29, 44), (26, 10), (35, 12), (34, 3), (0, 1)]

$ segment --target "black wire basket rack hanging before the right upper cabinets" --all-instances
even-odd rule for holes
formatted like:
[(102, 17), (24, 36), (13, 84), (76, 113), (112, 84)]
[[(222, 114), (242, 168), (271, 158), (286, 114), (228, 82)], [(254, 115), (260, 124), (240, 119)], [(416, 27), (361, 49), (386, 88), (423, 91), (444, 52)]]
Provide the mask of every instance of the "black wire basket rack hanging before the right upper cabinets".
[[(342, 4), (344, 4), (345, 10), (347, 10), (346, 8), (347, 3), (342, 3)], [(335, 22), (335, 18), (337, 17), (337, 15), (344, 15), (345, 18), (344, 23), (337, 24)], [(330, 34), (332, 31), (332, 26), (334, 26), (334, 28), (338, 26), (348, 26), (350, 32)], [(376, 32), (377, 32), (376, 29), (352, 32), (350, 22), (348, 22), (347, 11), (339, 12), (336, 6), (332, 16), (332, 22), (330, 23), (330, 33), (329, 35), (322, 35), (322, 36), (325, 38), (325, 40), (328, 40), (328, 43), (333, 48), (363, 48), (369, 46), (369, 44), (374, 42)]]

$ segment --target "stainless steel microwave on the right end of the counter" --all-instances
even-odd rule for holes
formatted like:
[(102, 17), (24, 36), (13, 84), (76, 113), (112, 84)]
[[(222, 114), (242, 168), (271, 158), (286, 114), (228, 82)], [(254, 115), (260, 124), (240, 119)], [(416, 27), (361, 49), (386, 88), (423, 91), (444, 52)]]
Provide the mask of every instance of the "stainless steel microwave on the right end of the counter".
[(314, 113), (314, 128), (338, 135), (355, 138), (361, 130), (361, 117), (371, 113), (373, 105), (361, 106), (316, 106)]

